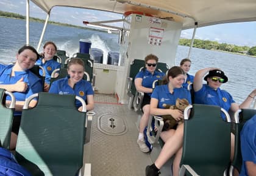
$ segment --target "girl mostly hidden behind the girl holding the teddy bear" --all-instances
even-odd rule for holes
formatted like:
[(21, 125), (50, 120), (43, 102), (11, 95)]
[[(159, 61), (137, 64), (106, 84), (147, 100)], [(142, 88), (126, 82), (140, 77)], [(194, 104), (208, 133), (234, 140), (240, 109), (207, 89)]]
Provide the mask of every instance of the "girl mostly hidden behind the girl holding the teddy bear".
[(188, 58), (182, 59), (182, 61), (180, 61), (180, 68), (182, 68), (182, 70), (186, 73), (185, 75), (185, 81), (182, 84), (182, 87), (184, 87), (185, 89), (190, 90), (191, 87), (188, 88), (188, 85), (190, 85), (191, 83), (194, 82), (194, 76), (188, 74), (188, 72), (190, 71), (190, 67), (191, 67), (191, 60)]

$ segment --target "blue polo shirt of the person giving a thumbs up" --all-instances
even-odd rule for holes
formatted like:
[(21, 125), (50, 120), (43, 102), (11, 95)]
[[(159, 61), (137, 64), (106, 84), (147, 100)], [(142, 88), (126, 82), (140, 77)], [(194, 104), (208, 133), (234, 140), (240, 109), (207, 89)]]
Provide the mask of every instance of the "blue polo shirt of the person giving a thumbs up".
[[(41, 79), (29, 70), (23, 72), (15, 72), (15, 76), (11, 76), (14, 65), (5, 66), (0, 64), (0, 84), (15, 84), (21, 78), (27, 83), (27, 90), (25, 92), (12, 92), (16, 101), (25, 101), (30, 95), (41, 92)], [(10, 96), (6, 100), (11, 100)], [(15, 112), (15, 115), (21, 115), (21, 112)]]

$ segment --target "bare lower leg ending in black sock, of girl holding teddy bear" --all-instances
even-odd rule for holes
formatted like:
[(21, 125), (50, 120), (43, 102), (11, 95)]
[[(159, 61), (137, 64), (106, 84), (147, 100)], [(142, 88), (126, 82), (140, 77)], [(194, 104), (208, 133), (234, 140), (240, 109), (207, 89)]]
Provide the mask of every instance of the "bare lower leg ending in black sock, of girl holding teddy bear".
[(183, 143), (183, 123), (179, 124), (174, 135), (166, 141), (163, 146), (162, 151), (160, 152), (157, 160), (155, 161), (155, 166), (158, 169), (162, 168), (163, 164), (169, 160), (179, 149), (182, 147)]

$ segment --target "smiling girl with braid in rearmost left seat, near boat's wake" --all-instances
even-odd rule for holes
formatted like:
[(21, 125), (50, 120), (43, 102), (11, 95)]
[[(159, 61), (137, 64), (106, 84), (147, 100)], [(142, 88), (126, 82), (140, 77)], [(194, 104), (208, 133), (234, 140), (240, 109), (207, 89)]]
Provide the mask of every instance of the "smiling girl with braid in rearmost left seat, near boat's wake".
[[(45, 70), (45, 80), (44, 80), (44, 92), (49, 91), (49, 85), (51, 80), (52, 72), (55, 69), (60, 69), (60, 63), (53, 59), (55, 53), (57, 51), (57, 47), (52, 41), (48, 41), (43, 46), (43, 53), (41, 54), (41, 58), (38, 59), (37, 63), (38, 66), (42, 66)], [(43, 71), (40, 69), (40, 75), (43, 75)], [(56, 72), (54, 78), (59, 76), (59, 73)]]

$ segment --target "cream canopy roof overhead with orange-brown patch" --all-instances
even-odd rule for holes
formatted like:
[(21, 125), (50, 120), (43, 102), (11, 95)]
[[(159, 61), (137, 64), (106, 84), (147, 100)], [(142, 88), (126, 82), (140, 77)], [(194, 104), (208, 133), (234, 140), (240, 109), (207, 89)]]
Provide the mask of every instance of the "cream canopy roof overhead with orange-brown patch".
[(222, 24), (227, 22), (256, 21), (255, 0), (30, 0), (50, 14), (52, 7), (66, 6), (103, 10), (124, 14), (143, 12), (164, 19), (183, 22), (182, 29)]

